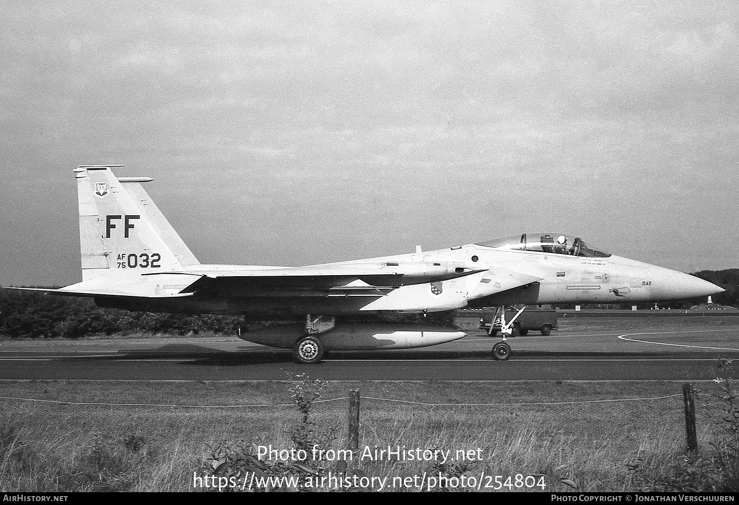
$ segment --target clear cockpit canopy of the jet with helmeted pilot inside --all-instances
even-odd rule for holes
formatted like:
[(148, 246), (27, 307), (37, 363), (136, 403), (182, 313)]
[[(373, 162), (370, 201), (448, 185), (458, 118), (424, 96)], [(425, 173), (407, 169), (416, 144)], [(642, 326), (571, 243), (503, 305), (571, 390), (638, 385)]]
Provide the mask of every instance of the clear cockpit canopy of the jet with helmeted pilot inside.
[(610, 256), (610, 253), (606, 253), (599, 247), (588, 246), (582, 238), (569, 236), (565, 233), (524, 233), (523, 235), (477, 242), (477, 245), (505, 250), (583, 256), (585, 258), (607, 258)]

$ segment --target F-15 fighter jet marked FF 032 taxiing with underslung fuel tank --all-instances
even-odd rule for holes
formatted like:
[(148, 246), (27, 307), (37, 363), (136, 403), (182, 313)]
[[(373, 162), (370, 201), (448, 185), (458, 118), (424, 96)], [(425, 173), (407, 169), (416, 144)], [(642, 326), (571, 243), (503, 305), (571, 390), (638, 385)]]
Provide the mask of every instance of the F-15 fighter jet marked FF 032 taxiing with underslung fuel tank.
[[(337, 323), (337, 316), (653, 302), (723, 292), (692, 275), (552, 232), (308, 267), (200, 264), (143, 189), (153, 179), (116, 177), (111, 168), (121, 166), (75, 168), (82, 281), (35, 290), (132, 311), (304, 317), (297, 325), (242, 334), (293, 348), (298, 363), (318, 363), (332, 349), (415, 348), (465, 336), (428, 324)], [(499, 360), (511, 354), (505, 340), (513, 321), (503, 321), (503, 340), (493, 348)]]

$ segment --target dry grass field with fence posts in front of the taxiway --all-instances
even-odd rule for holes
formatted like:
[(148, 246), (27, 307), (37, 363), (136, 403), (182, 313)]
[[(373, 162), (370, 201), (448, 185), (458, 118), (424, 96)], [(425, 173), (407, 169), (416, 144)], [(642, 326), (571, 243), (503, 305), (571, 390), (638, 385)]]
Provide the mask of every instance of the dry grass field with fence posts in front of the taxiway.
[[(230, 451), (233, 456), (239, 445), (248, 452), (252, 443), (289, 449), (295, 445), (290, 433), (300, 427), (312, 430), (309, 438), (323, 441), (326, 449), (346, 447), (347, 400), (314, 403), (305, 425), (291, 405), (290, 388), (295, 385), (294, 381), (0, 382), (0, 396), (59, 402), (269, 405), (173, 408), (2, 399), (0, 490), (190, 491), (194, 477), (208, 474), (202, 468), (204, 462), (211, 468), (205, 461), (209, 454)], [(706, 394), (718, 391), (713, 383), (697, 387)], [(401, 484), (406, 482), (402, 479), (426, 473), (474, 476), (483, 484), (480, 490), (499, 487), (500, 482), (503, 491), (620, 492), (639, 484), (630, 477), (627, 464), (641, 458), (653, 462), (653, 473), (669, 473), (670, 464), (685, 452), (681, 385), (674, 382), (330, 382), (323, 386), (321, 399), (345, 398), (352, 388), (358, 388), (362, 397), (360, 449), (406, 446), (451, 450), (451, 457), (457, 450), (475, 454), (471, 461), (446, 464), (387, 458), (349, 463), (350, 469), (358, 469), (357, 475), (387, 477), (386, 490), (418, 490)], [(661, 396), (671, 397), (643, 399)], [(431, 406), (370, 397), (505, 405)], [(716, 405), (708, 399), (699, 396), (697, 405), (702, 448), (715, 439), (718, 429), (711, 422), (717, 417)], [(276, 406), (281, 404), (287, 406)], [(307, 462), (321, 475), (336, 471), (335, 461)], [(232, 470), (229, 475), (236, 473)], [(497, 475), (502, 477), (498, 481)], [(528, 475), (537, 475), (536, 480), (524, 480)], [(399, 479), (391, 488), (393, 478)], [(534, 482), (540, 485), (528, 485)], [(446, 484), (455, 487), (450, 481)], [(455, 488), (463, 490), (458, 482)]]

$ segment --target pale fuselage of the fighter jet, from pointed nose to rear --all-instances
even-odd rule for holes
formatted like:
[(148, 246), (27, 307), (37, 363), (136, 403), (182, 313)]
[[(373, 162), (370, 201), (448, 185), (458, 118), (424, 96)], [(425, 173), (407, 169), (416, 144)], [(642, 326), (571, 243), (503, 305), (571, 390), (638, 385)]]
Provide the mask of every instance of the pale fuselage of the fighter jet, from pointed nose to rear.
[[(514, 303), (644, 303), (697, 298), (715, 292), (715, 285), (683, 272), (610, 255), (592, 258), (536, 251), (499, 250), (467, 244), (423, 253), (369, 258), (327, 264), (367, 264), (382, 268), (398, 264), (413, 272), (423, 265), (466, 265), (482, 269), (444, 281), (412, 281), (381, 294), (362, 296), (327, 295), (312, 289), (310, 281), (292, 291), (259, 289), (249, 292), (237, 282), (192, 298), (96, 298), (101, 306), (149, 312), (202, 312), (296, 316), (306, 313), (326, 315), (369, 315), (384, 312), (417, 313), (462, 309), (466, 306), (500, 306)], [(500, 268), (503, 266), (504, 268)], [(198, 271), (234, 265), (198, 265)], [(521, 284), (520, 272), (531, 282)], [(514, 287), (508, 287), (516, 284)], [(520, 284), (520, 285), (518, 285)]]

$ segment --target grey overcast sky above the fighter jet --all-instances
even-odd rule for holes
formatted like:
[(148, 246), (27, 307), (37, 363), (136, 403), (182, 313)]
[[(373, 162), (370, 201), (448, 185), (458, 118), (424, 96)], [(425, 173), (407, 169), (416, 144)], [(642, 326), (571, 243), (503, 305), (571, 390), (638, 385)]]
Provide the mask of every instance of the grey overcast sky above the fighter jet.
[(739, 267), (739, 4), (0, 4), (0, 284), (81, 279), (72, 168), (202, 263), (545, 230)]

